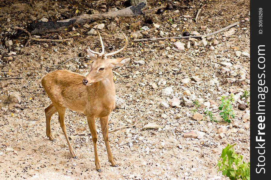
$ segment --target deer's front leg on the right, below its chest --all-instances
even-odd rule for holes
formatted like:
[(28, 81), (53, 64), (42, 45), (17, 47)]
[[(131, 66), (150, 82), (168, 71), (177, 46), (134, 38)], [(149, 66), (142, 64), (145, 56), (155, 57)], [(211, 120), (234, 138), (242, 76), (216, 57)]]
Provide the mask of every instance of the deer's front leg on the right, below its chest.
[(103, 133), (103, 137), (104, 137), (104, 143), (106, 146), (106, 151), (107, 151), (107, 156), (108, 156), (109, 162), (111, 163), (111, 165), (113, 167), (119, 167), (113, 158), (113, 155), (112, 155), (111, 149), (110, 149), (110, 145), (109, 145), (109, 141), (108, 141), (108, 116), (100, 117), (100, 123), (101, 123), (101, 129), (102, 129), (102, 133)]

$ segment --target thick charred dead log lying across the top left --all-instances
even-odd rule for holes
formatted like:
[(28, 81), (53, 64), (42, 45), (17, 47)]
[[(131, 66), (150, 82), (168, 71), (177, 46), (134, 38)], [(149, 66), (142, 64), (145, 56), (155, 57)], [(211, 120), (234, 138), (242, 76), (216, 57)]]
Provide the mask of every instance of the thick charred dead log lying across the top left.
[[(92, 23), (98, 20), (108, 19), (112, 17), (136, 17), (138, 15), (144, 14), (142, 12), (143, 7), (146, 3), (142, 2), (135, 6), (126, 7), (125, 9), (110, 11), (100, 14), (81, 14), (70, 19), (60, 20), (60, 21), (49, 21), (49, 22), (32, 22), (27, 26), (26, 30), (30, 32), (31, 35), (44, 35), (46, 33), (59, 32), (70, 26), (74, 25), (84, 25), (85, 23)], [(15, 36), (20, 36), (25, 34), (25, 32), (17, 32)]]

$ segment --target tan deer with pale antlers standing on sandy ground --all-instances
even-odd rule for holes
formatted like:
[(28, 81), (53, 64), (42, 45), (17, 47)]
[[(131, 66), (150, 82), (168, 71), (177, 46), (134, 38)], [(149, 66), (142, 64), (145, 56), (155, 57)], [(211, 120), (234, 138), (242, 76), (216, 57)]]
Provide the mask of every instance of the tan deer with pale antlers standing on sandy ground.
[(55, 70), (46, 74), (42, 78), (41, 84), (52, 101), (52, 104), (44, 110), (47, 137), (51, 141), (55, 141), (54, 136), (51, 134), (50, 122), (53, 114), (58, 112), (58, 120), (67, 140), (69, 151), (72, 158), (77, 159), (66, 132), (65, 111), (68, 108), (72, 111), (84, 113), (92, 136), (96, 170), (101, 172), (97, 152), (98, 136), (95, 119), (99, 118), (100, 120), (108, 160), (112, 167), (119, 167), (113, 158), (108, 141), (108, 116), (115, 109), (116, 96), (112, 69), (113, 67), (123, 66), (130, 58), (107, 58), (107, 56), (118, 54), (127, 47), (127, 37), (123, 32), (125, 45), (121, 49), (110, 53), (104, 51), (103, 40), (98, 30), (97, 33), (101, 41), (102, 52), (92, 51), (88, 47), (87, 52), (93, 63), (86, 76), (69, 70)]

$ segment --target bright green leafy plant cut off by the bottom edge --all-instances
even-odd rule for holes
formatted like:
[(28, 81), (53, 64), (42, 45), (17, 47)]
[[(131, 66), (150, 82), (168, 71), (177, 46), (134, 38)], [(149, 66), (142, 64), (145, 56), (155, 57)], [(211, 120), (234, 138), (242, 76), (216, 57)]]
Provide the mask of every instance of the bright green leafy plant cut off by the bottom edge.
[[(236, 144), (234, 144), (236, 145)], [(230, 180), (246, 179), (250, 180), (250, 162), (245, 163), (242, 161), (242, 155), (235, 154), (233, 146), (227, 145), (221, 153), (220, 158), (222, 161), (218, 161), (218, 171), (222, 171), (223, 175), (226, 175)]]

